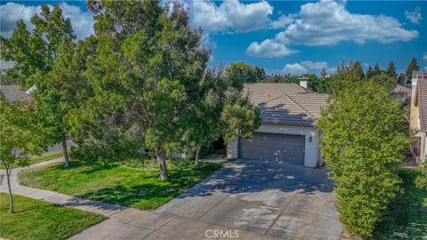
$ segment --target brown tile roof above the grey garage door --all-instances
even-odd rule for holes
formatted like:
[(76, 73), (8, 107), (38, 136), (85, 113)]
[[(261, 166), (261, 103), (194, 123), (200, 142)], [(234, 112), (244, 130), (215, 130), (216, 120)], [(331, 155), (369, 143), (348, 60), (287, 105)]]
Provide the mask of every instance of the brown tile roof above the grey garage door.
[(326, 106), (326, 94), (298, 84), (245, 84), (244, 91), (260, 109), (262, 123), (314, 125)]

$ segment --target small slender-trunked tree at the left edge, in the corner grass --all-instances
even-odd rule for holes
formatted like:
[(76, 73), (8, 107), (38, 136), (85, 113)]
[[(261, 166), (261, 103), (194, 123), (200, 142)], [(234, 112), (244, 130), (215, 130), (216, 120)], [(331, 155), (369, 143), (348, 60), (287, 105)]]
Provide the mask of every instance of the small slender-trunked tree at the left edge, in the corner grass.
[(28, 154), (40, 154), (40, 127), (27, 103), (9, 102), (0, 94), (0, 164), (5, 168), (10, 212), (13, 212), (11, 173), (15, 164), (28, 165)]

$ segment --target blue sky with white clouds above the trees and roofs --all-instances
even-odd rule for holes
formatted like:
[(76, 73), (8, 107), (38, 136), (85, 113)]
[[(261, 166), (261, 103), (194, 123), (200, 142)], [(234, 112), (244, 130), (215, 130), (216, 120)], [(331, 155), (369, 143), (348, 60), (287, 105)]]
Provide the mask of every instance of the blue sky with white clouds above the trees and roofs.
[[(93, 19), (85, 2), (2, 1), (1, 34), (9, 36), (16, 20), (29, 21), (41, 4), (60, 3), (77, 36), (92, 33)], [(209, 64), (235, 61), (264, 67), (269, 73), (328, 72), (342, 60), (390, 60), (399, 71), (415, 57), (427, 66), (427, 2), (272, 1), (184, 2), (191, 26), (201, 26), (203, 42), (213, 50)], [(427, 68), (426, 68), (427, 70)]]

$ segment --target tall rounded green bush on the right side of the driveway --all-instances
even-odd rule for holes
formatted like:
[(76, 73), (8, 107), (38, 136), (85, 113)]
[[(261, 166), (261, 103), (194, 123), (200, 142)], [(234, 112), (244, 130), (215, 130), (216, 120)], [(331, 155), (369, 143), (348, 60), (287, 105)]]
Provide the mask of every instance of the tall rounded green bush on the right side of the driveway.
[(340, 220), (350, 233), (366, 237), (399, 190), (396, 173), (410, 139), (404, 112), (385, 88), (347, 82), (318, 120), (320, 148), (335, 182)]

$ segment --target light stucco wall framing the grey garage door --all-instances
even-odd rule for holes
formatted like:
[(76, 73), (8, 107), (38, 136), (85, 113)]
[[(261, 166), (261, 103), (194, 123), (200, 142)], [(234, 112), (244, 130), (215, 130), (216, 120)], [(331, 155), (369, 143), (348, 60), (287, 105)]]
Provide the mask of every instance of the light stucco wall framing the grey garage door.
[[(255, 132), (305, 135), (304, 165), (308, 167), (317, 167), (318, 165), (323, 164), (323, 160), (320, 159), (321, 157), (318, 149), (318, 131), (316, 131), (313, 126), (262, 124)], [(238, 140), (228, 144), (227, 156), (238, 158)]]

